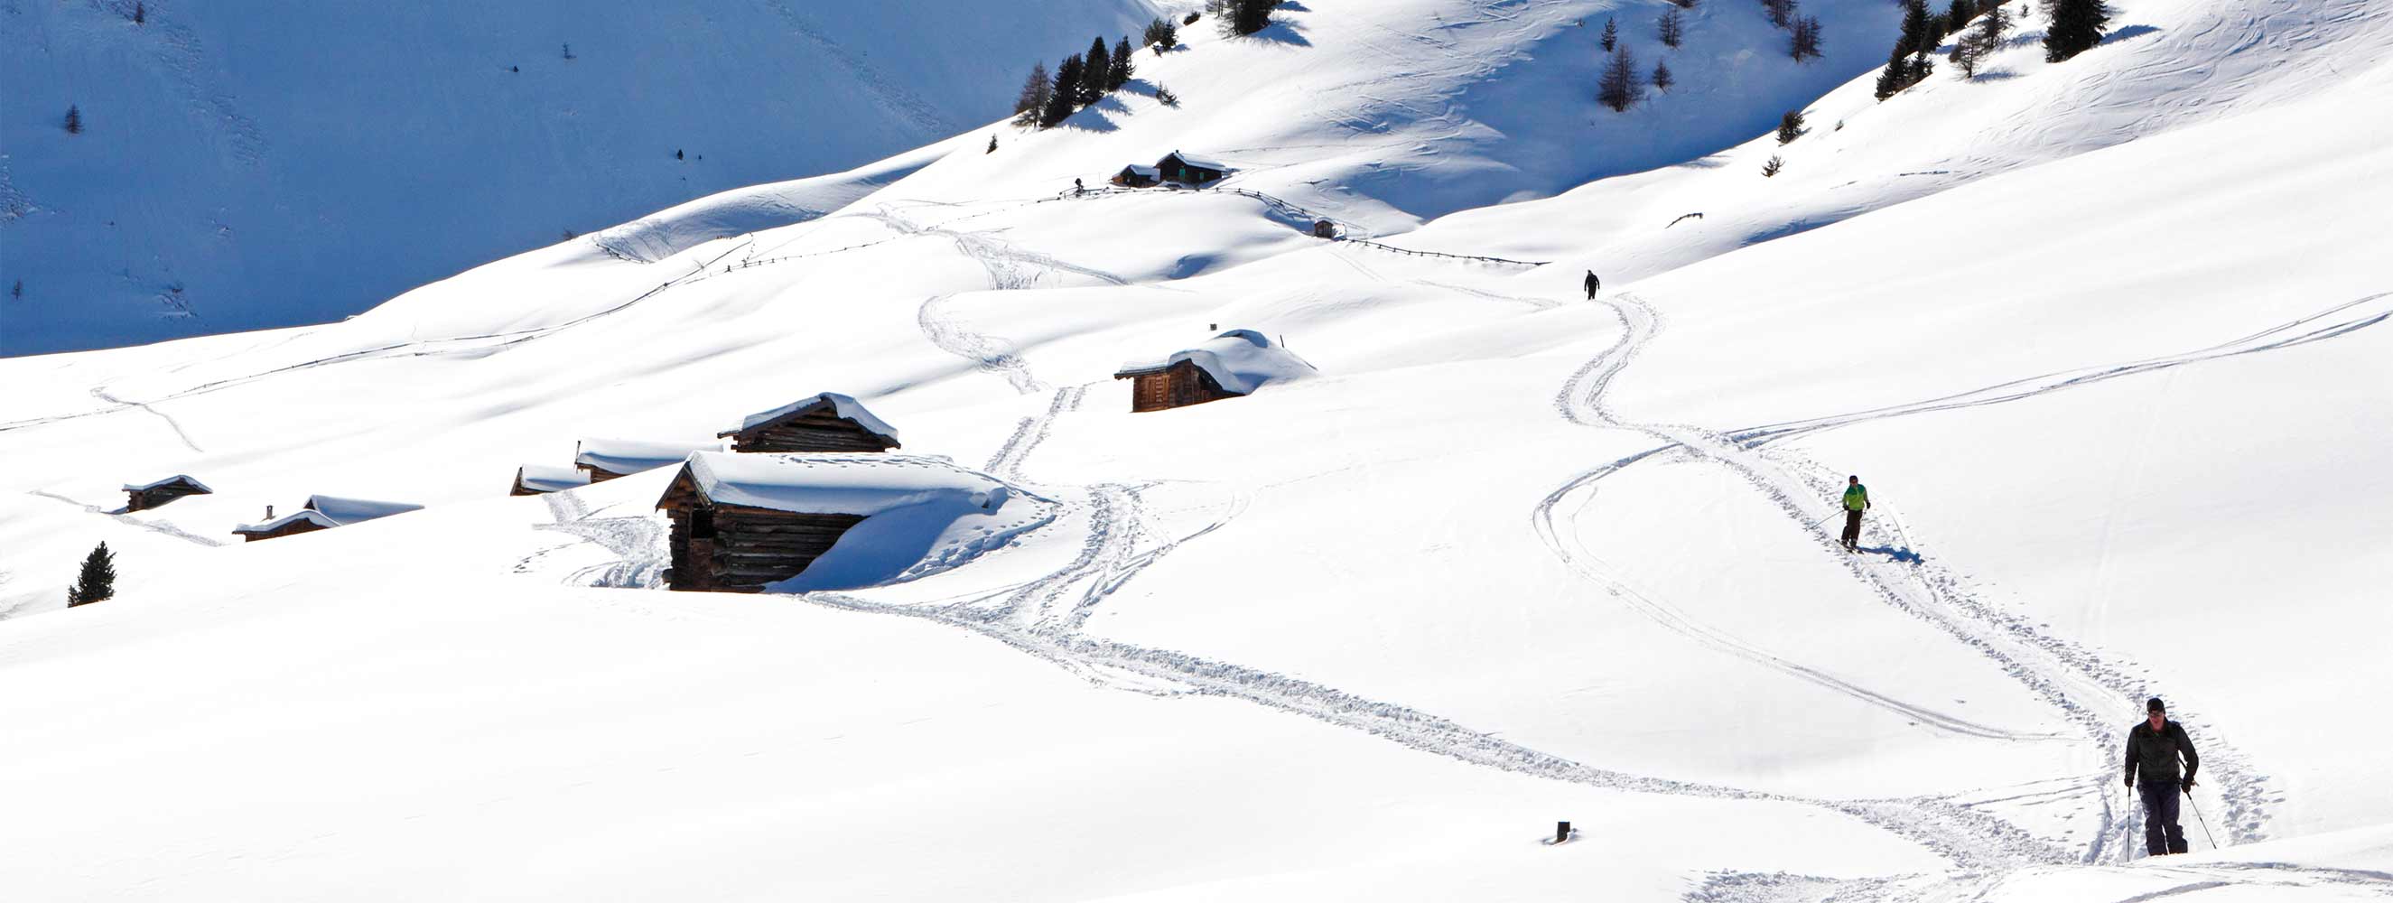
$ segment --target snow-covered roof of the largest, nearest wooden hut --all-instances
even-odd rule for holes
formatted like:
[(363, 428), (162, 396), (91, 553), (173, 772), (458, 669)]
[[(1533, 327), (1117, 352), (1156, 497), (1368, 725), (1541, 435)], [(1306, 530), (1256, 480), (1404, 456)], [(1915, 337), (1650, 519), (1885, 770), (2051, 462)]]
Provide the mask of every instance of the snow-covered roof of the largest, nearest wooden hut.
[(1007, 489), (995, 477), (940, 457), (878, 453), (735, 455), (694, 453), (689, 477), (718, 505), (806, 515), (871, 517), (928, 501), (995, 510)]

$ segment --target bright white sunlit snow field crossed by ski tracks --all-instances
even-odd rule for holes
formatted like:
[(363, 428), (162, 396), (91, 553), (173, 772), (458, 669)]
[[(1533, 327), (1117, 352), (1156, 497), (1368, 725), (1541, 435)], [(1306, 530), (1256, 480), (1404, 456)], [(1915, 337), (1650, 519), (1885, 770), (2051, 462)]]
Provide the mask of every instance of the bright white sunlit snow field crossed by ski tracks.
[[(1814, 0), (1795, 65), (1711, 0), (1596, 108), (1596, 29), (1651, 65), (1661, 7), (1304, 0), (818, 218), (0, 359), (0, 889), (2393, 896), (2393, 12), (2123, 0), (1876, 103), (1898, 10)], [(1235, 172), (1070, 192), (1170, 149)], [(1319, 374), (1129, 412), (1122, 362), (1228, 328)], [(670, 469), (503, 489), (823, 390), (1051, 520), (677, 594)], [(177, 472), (215, 493), (115, 513)], [(309, 493), (426, 508), (235, 544)], [(117, 599), (62, 611), (96, 541)], [(2185, 857), (2118, 783), (2147, 695)]]

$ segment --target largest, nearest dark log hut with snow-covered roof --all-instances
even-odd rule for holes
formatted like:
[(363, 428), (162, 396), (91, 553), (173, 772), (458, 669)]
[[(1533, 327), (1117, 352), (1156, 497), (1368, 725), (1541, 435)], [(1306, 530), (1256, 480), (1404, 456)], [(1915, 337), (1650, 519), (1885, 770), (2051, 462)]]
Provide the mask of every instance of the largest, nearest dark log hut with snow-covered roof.
[(933, 457), (694, 453), (656, 501), (672, 520), (665, 584), (761, 592), (802, 575), (866, 517), (940, 503), (998, 510), (1005, 498), (1005, 484)]

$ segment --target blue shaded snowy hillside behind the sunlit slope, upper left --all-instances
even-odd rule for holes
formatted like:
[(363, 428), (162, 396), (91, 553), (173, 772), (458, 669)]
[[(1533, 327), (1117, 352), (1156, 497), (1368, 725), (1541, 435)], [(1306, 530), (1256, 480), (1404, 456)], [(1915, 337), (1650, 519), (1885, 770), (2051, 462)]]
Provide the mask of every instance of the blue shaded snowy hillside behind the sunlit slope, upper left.
[[(1034, 60), (1153, 14), (151, 0), (136, 24), (134, 7), (0, 5), (0, 285), (24, 283), (0, 295), (0, 354), (337, 321), (565, 230), (972, 129)], [(797, 192), (747, 225), (854, 194)]]

